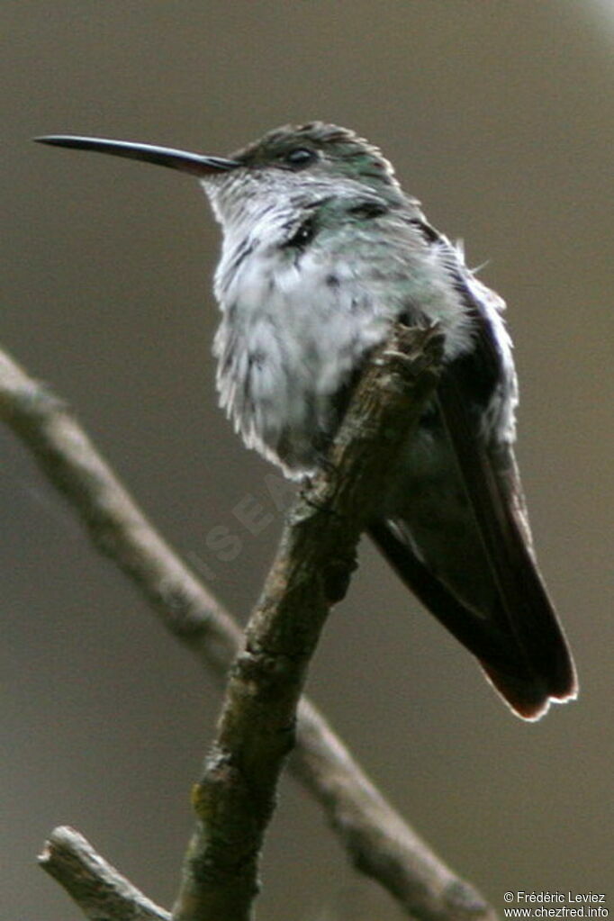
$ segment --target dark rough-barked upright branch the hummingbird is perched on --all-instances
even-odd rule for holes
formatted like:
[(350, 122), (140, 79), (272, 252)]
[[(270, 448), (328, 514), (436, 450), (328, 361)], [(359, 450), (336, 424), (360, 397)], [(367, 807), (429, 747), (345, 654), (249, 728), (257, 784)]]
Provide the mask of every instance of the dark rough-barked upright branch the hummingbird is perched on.
[(249, 921), (277, 780), (296, 707), (362, 530), (432, 395), (442, 355), (433, 331), (398, 329), (366, 369), (319, 472), (292, 509), (226, 684), (212, 752), (194, 791), (198, 821), (173, 916)]

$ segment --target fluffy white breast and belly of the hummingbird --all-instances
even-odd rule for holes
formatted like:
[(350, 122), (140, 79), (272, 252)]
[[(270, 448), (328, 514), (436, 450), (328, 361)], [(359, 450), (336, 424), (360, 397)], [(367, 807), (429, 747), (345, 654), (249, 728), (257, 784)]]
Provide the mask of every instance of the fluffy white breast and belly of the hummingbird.
[(391, 320), (438, 321), (449, 357), (471, 343), (444, 260), (402, 216), (332, 221), (304, 251), (284, 246), (304, 219), (272, 208), (248, 234), (227, 228), (215, 276), (221, 405), (249, 447), (295, 476), (318, 465), (335, 398)]

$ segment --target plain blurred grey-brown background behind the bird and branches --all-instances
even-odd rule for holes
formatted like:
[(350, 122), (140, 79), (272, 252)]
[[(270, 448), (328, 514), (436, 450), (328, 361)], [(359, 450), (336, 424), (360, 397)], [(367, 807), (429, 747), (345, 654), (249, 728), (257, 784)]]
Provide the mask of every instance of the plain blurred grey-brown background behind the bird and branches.
[[(609, 892), (612, 871), (614, 6), (591, 0), (4, 0), (0, 339), (75, 408), (181, 554), (244, 619), (279, 533), (267, 465), (216, 408), (219, 239), (196, 183), (35, 146), (99, 134), (224, 154), (321, 118), (384, 148), (435, 227), (506, 298), (519, 458), (573, 644), (575, 705), (523, 725), (368, 545), (308, 691), (390, 799), (498, 908), (506, 890)], [(1, 438), (2, 917), (81, 915), (35, 866), (75, 825), (170, 904), (219, 695)], [(232, 562), (214, 526), (241, 542)], [(377, 918), (284, 781), (259, 912)]]

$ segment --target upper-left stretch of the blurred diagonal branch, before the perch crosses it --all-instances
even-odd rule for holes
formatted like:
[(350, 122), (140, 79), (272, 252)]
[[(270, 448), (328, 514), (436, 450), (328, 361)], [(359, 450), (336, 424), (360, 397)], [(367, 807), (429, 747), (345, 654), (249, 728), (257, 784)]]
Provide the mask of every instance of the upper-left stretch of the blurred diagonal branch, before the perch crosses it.
[(64, 403), (2, 352), (0, 418), (75, 507), (98, 550), (133, 579), (170, 632), (225, 674), (240, 641), (237, 624), (145, 518)]

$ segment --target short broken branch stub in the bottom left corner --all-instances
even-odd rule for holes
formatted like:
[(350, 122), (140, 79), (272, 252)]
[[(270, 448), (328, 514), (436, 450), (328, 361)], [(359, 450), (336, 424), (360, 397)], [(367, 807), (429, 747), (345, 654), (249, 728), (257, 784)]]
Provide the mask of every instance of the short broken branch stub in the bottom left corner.
[(122, 877), (73, 828), (52, 831), (39, 864), (92, 921), (170, 921), (164, 908)]

